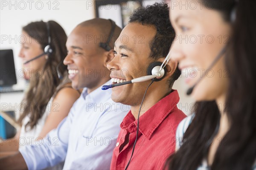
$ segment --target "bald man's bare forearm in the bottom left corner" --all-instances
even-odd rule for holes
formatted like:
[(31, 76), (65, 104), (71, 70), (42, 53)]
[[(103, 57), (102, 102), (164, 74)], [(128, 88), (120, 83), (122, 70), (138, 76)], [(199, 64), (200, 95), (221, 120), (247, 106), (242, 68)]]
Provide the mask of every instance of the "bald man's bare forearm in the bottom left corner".
[(0, 159), (1, 170), (27, 170), (26, 162), (20, 152)]

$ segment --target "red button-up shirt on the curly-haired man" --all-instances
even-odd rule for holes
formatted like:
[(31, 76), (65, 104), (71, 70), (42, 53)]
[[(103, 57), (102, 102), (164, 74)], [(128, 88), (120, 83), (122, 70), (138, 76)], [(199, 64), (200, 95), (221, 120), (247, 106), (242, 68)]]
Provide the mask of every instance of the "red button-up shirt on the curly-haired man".
[[(175, 151), (177, 126), (186, 117), (177, 108), (179, 99), (178, 92), (172, 91), (140, 116), (138, 139), (129, 170), (163, 169), (166, 159)], [(124, 170), (131, 157), (137, 130), (137, 120), (131, 111), (120, 126), (111, 170)]]

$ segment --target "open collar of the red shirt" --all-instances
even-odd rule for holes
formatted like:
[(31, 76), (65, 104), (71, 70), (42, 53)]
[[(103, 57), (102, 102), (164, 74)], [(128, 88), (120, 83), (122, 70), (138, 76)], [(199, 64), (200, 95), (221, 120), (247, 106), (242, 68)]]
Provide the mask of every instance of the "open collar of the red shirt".
[[(154, 130), (156, 130), (172, 110), (177, 107), (179, 100), (179, 94), (177, 90), (174, 90), (140, 116), (139, 130), (148, 140), (154, 133)], [(121, 123), (121, 128), (128, 129), (131, 127), (131, 124), (137, 126), (137, 120), (135, 120), (133, 114), (129, 111)]]

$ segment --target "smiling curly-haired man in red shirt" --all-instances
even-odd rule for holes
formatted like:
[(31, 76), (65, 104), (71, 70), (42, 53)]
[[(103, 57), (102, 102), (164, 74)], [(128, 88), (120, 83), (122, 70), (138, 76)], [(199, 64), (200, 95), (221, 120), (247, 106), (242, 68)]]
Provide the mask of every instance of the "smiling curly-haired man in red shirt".
[[(155, 3), (135, 11), (116, 40), (115, 57), (108, 63), (113, 84), (147, 75), (150, 63), (164, 61), (174, 37), (166, 4)], [(127, 169), (163, 169), (166, 159), (175, 151), (177, 125), (186, 117), (177, 108), (179, 95), (172, 89), (179, 76), (177, 62), (168, 62), (166, 76), (148, 88), (141, 111), (151, 80), (112, 89), (113, 101), (131, 105), (131, 111), (120, 125), (111, 170), (127, 167), (137, 135), (139, 112), (138, 138)]]

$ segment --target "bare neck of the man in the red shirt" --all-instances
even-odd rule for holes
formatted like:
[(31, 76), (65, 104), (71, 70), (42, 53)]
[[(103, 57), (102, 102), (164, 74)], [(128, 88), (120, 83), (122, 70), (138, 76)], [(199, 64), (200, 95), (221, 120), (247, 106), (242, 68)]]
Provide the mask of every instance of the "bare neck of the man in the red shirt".
[(140, 111), (140, 105), (141, 105), (141, 102), (140, 102), (140, 103), (137, 103), (136, 105), (131, 106), (131, 113), (134, 115), (135, 119), (137, 119), (139, 115), (139, 111), (140, 111), (140, 116), (142, 116), (157, 102), (159, 102), (165, 96), (170, 94), (171, 91), (172, 89), (169, 89), (168, 87), (166, 88), (149, 87), (147, 94), (145, 95), (143, 105), (141, 106), (141, 111)]

